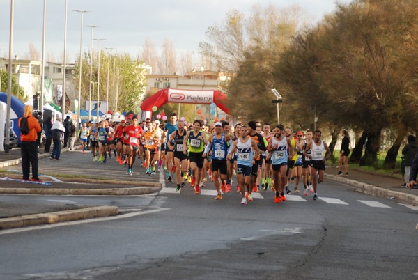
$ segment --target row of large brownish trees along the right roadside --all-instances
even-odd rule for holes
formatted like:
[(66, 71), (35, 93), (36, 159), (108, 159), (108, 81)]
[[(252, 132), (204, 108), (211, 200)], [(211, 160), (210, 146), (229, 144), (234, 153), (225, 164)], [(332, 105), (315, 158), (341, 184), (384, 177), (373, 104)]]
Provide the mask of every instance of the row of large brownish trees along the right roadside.
[(248, 18), (233, 11), (224, 26), (211, 27), (212, 44), (201, 49), (235, 72), (228, 86), (234, 115), (275, 123), (277, 88), (282, 123), (313, 128), (316, 114), (331, 147), (342, 127), (357, 132), (351, 162), (376, 162), (382, 132), (394, 132), (385, 159), (393, 167), (405, 135), (418, 127), (417, 10), (415, 0), (356, 0), (307, 27), (295, 7), (255, 6)]

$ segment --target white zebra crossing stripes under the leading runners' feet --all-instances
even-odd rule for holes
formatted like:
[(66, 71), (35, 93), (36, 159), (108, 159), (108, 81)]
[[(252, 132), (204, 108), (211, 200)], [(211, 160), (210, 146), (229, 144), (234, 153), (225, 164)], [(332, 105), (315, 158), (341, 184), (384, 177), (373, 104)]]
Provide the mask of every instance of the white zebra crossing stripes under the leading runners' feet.
[[(160, 194), (180, 194), (183, 189), (180, 189), (180, 191), (176, 191), (173, 187), (163, 187), (160, 191)], [(202, 196), (216, 196), (217, 191), (215, 189), (201, 189)], [(255, 192), (252, 193), (253, 199), (264, 199), (263, 194)], [(271, 198), (271, 197), (269, 197)], [(341, 199), (336, 199), (332, 197), (323, 197), (318, 196), (318, 200), (323, 201), (328, 204), (336, 204), (336, 205), (350, 205), (350, 203), (347, 203), (346, 201), (342, 201)], [(286, 201), (296, 201), (296, 202), (307, 202), (307, 199), (305, 199), (303, 196), (294, 195), (294, 194), (287, 194), (286, 195)], [(357, 200), (357, 202), (362, 203), (364, 205), (367, 205), (371, 208), (392, 208), (389, 205), (386, 205), (384, 203), (381, 203), (379, 201), (366, 201), (366, 200)], [(418, 206), (415, 205), (408, 205), (403, 203), (398, 203), (399, 205), (403, 205), (406, 208), (410, 208), (411, 210), (418, 211)]]

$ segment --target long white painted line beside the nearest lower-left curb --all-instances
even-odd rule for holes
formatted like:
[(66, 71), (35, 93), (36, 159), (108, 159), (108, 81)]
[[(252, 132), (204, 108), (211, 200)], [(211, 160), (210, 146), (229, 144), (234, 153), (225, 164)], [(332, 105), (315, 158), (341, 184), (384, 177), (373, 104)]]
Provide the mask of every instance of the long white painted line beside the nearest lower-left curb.
[(116, 216), (109, 216), (109, 217), (102, 217), (102, 218), (93, 218), (93, 219), (82, 219), (78, 221), (67, 221), (64, 223), (57, 223), (57, 224), (45, 224), (40, 226), (31, 226), (29, 228), (13, 228), (13, 229), (5, 229), (0, 231), (0, 235), (3, 234), (9, 234), (9, 233), (22, 233), (24, 231), (36, 231), (40, 229), (46, 229), (46, 228), (57, 228), (59, 226), (74, 226), (77, 224), (90, 224), (95, 223), (97, 221), (111, 221), (115, 219), (124, 219), (124, 218), (130, 218), (135, 217), (139, 215), (145, 215), (145, 214), (151, 214), (155, 212), (165, 211), (165, 210), (171, 210), (171, 208), (158, 208), (153, 210), (146, 210), (141, 212), (131, 212), (127, 214), (122, 215), (116, 215)]

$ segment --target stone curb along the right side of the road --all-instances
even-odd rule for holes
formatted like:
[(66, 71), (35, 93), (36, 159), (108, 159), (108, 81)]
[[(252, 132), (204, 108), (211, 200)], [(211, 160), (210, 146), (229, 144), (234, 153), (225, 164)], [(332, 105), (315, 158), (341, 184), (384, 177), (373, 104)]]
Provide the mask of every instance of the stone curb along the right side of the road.
[(335, 175), (330, 175), (324, 173), (324, 177), (330, 180), (334, 180), (336, 182), (342, 182), (347, 185), (352, 185), (353, 187), (357, 187), (357, 192), (362, 192), (364, 194), (371, 194), (372, 196), (380, 196), (385, 197), (387, 199), (395, 199), (396, 201), (400, 201), (402, 203), (418, 205), (418, 196), (415, 194), (405, 194), (403, 192), (396, 192), (390, 189), (385, 189), (382, 187), (376, 187), (370, 184), (366, 184), (365, 182), (359, 182), (356, 180), (351, 180)]

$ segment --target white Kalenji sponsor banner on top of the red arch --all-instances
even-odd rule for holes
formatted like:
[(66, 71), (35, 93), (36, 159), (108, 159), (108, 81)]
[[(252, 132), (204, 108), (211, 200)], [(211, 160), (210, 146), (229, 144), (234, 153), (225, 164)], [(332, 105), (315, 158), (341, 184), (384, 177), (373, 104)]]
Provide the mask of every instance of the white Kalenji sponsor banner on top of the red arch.
[(180, 89), (169, 89), (169, 102), (176, 103), (213, 103), (213, 91), (182, 91)]

